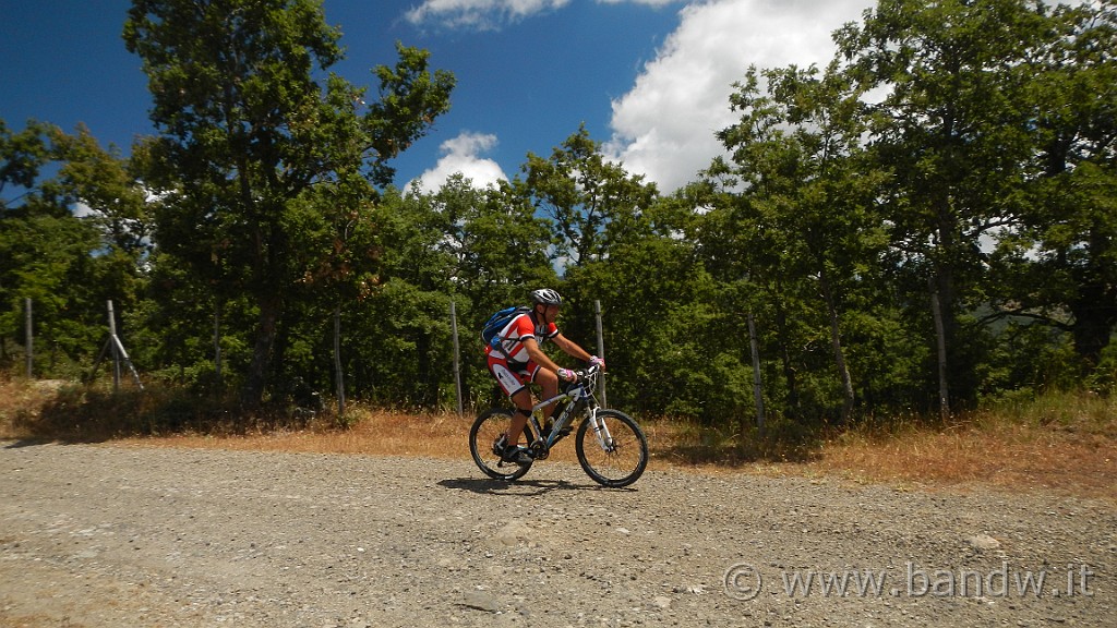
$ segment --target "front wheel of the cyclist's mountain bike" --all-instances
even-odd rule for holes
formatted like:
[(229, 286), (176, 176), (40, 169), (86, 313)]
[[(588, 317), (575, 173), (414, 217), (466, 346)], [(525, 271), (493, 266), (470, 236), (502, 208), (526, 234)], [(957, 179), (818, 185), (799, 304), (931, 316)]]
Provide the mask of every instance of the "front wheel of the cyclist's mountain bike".
[(602, 486), (619, 488), (632, 484), (648, 466), (648, 439), (643, 430), (631, 417), (617, 410), (598, 410), (598, 422), (604, 426), (600, 432), (590, 429), (589, 418), (577, 428), (574, 449), (579, 464)]

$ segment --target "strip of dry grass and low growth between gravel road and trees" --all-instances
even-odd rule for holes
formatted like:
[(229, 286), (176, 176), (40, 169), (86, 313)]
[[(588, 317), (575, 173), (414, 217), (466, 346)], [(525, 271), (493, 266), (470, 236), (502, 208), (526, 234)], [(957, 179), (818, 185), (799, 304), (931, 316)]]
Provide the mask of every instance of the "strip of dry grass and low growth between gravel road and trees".
[[(468, 458), (472, 417), (350, 407), (251, 418), (221, 399), (149, 387), (29, 381), (0, 374), (0, 438), (144, 447)], [(643, 417), (653, 469), (805, 476), (886, 483), (898, 489), (991, 485), (1117, 499), (1117, 398), (1091, 392), (1022, 394), (948, 421), (906, 417), (812, 430), (773, 425), (719, 430)], [(554, 459), (573, 462), (573, 447)]]

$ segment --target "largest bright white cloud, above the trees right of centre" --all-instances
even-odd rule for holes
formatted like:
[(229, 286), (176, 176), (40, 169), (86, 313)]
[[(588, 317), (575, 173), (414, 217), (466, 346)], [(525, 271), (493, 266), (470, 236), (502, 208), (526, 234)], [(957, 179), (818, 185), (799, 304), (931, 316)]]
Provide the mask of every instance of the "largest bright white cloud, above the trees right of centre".
[(875, 0), (708, 0), (688, 4), (679, 27), (636, 84), (612, 103), (611, 158), (670, 192), (723, 154), (714, 133), (733, 124), (728, 98), (750, 65), (824, 66), (830, 34), (860, 21)]

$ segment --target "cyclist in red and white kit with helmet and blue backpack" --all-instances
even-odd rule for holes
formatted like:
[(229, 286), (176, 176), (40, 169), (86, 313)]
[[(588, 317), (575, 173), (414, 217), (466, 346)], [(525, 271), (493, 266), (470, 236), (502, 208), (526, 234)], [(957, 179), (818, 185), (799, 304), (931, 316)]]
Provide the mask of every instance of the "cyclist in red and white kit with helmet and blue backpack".
[[(577, 380), (574, 371), (562, 369), (547, 358), (540, 348), (544, 341), (551, 340), (572, 358), (591, 365), (600, 364), (602, 370), (605, 368), (603, 360), (591, 355), (558, 332), (555, 318), (561, 305), (562, 296), (557, 292), (551, 288), (532, 291), (531, 311), (516, 316), (497, 333), (499, 343), (496, 348), (491, 344), (485, 348), (489, 372), (516, 406), (508, 431), (493, 444), (493, 453), (506, 463), (532, 462), (531, 451), (518, 445), (519, 435), (527, 425), (527, 418), (532, 416), (532, 393), (527, 386), (538, 384), (543, 399), (550, 399), (558, 393), (558, 380)], [(554, 403), (544, 409), (548, 424), (554, 409)]]

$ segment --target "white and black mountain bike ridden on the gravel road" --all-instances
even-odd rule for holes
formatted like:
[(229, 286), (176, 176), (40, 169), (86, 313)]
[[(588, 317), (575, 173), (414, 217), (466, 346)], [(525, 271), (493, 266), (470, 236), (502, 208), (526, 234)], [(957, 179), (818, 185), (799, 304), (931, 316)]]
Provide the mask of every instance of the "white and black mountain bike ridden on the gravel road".
[[(648, 466), (648, 439), (640, 426), (624, 412), (599, 406), (593, 394), (601, 375), (599, 367), (576, 374), (577, 379), (558, 394), (532, 407), (532, 416), (521, 436), (521, 443), (527, 444), (531, 463), (504, 462), (495, 450), (494, 444), (512, 422), (513, 410), (493, 408), (477, 417), (469, 428), (469, 453), (485, 475), (504, 480), (523, 477), (533, 463), (547, 459), (551, 449), (570, 436), (574, 422), (581, 419), (574, 436), (574, 451), (586, 475), (612, 488), (628, 486), (640, 478)], [(555, 410), (554, 425), (548, 428), (541, 425), (540, 410), (554, 402), (562, 406)]]

